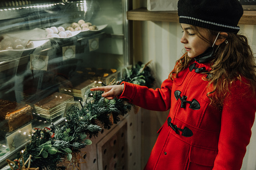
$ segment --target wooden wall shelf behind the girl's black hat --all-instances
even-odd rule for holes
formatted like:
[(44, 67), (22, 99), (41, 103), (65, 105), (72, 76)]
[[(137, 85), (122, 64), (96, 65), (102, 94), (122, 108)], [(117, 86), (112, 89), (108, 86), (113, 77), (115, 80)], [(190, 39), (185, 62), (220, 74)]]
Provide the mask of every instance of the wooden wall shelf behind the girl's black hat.
[[(149, 12), (146, 8), (139, 8), (128, 11), (127, 20), (179, 22), (179, 16), (178, 11)], [(256, 11), (244, 11), (239, 24), (256, 25)]]

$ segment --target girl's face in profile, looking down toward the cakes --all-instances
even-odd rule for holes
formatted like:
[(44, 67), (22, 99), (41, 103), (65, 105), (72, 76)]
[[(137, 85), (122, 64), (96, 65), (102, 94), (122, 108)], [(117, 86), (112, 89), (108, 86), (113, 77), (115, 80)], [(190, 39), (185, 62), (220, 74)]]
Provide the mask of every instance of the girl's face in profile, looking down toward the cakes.
[[(183, 29), (183, 36), (181, 39), (181, 43), (184, 44), (186, 51), (188, 52), (188, 56), (190, 58), (197, 57), (198, 55), (204, 53), (208, 47), (211, 47), (206, 41), (202, 40), (196, 32), (191, 28), (188, 24), (181, 24)], [(202, 29), (200, 34), (207, 38), (207, 33)]]

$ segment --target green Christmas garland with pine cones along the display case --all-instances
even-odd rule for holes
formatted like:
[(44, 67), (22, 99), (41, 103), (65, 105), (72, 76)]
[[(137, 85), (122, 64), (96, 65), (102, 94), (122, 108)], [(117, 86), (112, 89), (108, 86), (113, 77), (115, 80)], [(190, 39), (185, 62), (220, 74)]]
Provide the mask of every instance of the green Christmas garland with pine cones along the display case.
[[(154, 78), (147, 67), (136, 64), (130, 70), (126, 69), (126, 75), (122, 81), (151, 87)], [(29, 160), (29, 165), (35, 169), (65, 169), (61, 164), (66, 158), (68, 161), (87, 145), (92, 144), (89, 138), (97, 137), (102, 128), (110, 129), (120, 121), (120, 116), (128, 113), (131, 104), (120, 99), (108, 100), (102, 97), (102, 91), (90, 92), (86, 104), (80, 108), (72, 104), (66, 111), (65, 122), (61, 125), (51, 124), (50, 128), (34, 128), (31, 142), (25, 150), (17, 155), (14, 161), (7, 160), (11, 169), (23, 169), (24, 160)], [(27, 164), (26, 164), (27, 165)], [(27, 169), (27, 168), (26, 168)]]

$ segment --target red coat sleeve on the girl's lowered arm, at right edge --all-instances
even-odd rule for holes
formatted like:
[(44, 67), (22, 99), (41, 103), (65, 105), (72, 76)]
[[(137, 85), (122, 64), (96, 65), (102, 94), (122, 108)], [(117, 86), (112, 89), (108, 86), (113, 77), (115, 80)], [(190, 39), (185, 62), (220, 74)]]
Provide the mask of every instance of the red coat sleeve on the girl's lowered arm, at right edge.
[(221, 116), (218, 154), (213, 169), (240, 169), (249, 144), (256, 111), (249, 86), (236, 81), (225, 97)]

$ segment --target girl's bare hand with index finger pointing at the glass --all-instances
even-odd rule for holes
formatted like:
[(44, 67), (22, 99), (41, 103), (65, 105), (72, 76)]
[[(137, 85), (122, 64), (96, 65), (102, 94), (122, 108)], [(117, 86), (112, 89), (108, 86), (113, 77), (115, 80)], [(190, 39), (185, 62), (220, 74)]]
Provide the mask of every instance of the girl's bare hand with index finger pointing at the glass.
[(122, 94), (124, 90), (124, 85), (111, 85), (111, 86), (102, 86), (102, 87), (94, 87), (90, 89), (91, 91), (104, 91), (102, 97), (107, 99), (114, 99), (115, 97)]

